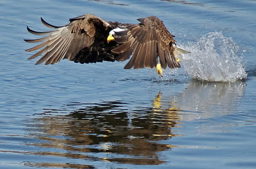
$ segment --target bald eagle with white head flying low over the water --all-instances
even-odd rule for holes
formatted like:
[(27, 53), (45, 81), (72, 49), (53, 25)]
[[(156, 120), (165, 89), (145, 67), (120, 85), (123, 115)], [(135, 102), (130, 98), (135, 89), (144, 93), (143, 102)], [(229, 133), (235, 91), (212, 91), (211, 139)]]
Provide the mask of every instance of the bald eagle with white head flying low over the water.
[[(93, 14), (84, 14), (70, 19), (67, 25), (54, 26), (41, 18), (44, 25), (55, 30), (38, 32), (27, 27), (32, 34), (48, 35), (40, 39), (24, 39), (26, 42), (42, 42), (26, 50), (30, 52), (42, 48), (28, 59), (44, 54), (35, 65), (42, 62), (45, 65), (55, 64), (61, 59), (84, 64), (125, 61), (132, 55), (125, 69), (180, 68), (174, 51), (184, 54), (189, 51), (177, 47), (175, 36), (157, 17), (138, 20), (139, 24), (108, 22)], [(158, 58), (160, 66), (157, 66)], [(160, 76), (162, 70), (157, 72)]]

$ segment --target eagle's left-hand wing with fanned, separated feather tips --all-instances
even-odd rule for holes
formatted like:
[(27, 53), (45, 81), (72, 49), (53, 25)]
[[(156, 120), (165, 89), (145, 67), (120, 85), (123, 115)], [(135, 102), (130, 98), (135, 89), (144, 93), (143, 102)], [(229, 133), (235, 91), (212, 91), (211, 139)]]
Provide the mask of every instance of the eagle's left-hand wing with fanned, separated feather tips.
[[(42, 48), (36, 54), (28, 58), (34, 59), (35, 57), (44, 54), (44, 56), (42, 56), (41, 59), (36, 62), (36, 65), (41, 64), (44, 61), (46, 61), (45, 65), (54, 64), (59, 62), (61, 59), (74, 60), (75, 62), (81, 63), (102, 62), (102, 58), (95, 60), (87, 58), (83, 55), (87, 54), (90, 56), (90, 53), (95, 52), (92, 51), (91, 48), (85, 49), (85, 51), (81, 50), (91, 47), (95, 41), (95, 38), (101, 39), (99, 36), (107, 37), (109, 30), (114, 28), (113, 24), (103, 20), (102, 18), (96, 17), (93, 14), (85, 14), (80, 17), (72, 18), (70, 19), (70, 23), (64, 26), (50, 25), (42, 18), (41, 21), (47, 27), (55, 28), (55, 30), (49, 32), (37, 32), (32, 31), (29, 29), (29, 27), (27, 27), (27, 30), (32, 34), (48, 35), (47, 37), (40, 39), (24, 39), (26, 42), (42, 42), (41, 44), (26, 50), (35, 51)], [(99, 33), (97, 31), (103, 31), (103, 33)], [(105, 44), (107, 44), (107, 42), (104, 42), (104, 45)], [(96, 55), (98, 55), (97, 52)], [(107, 60), (111, 59), (107, 58)]]

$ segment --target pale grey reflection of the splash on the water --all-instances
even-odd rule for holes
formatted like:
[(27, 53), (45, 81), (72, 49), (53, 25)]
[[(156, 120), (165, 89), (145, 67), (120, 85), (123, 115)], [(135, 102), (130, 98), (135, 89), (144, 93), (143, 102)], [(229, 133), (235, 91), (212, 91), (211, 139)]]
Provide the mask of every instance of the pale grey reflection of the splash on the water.
[(246, 82), (204, 82), (192, 79), (184, 92), (176, 96), (180, 109), (188, 110), (180, 118), (193, 121), (232, 114), (244, 95), (245, 87)]

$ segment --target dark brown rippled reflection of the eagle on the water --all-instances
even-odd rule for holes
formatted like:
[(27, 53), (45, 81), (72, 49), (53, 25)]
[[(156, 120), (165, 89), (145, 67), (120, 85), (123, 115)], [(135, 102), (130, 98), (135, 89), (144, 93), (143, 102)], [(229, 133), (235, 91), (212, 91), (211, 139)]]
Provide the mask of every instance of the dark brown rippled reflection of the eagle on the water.
[[(155, 109), (160, 95), (156, 96), (153, 107), (134, 108), (122, 101), (112, 101), (73, 103), (65, 105), (63, 110), (45, 109), (44, 117), (36, 119), (43, 132), (35, 137), (47, 142), (33, 145), (69, 152), (40, 155), (140, 165), (164, 163), (157, 153), (173, 145), (154, 141), (176, 136), (171, 129), (176, 126), (178, 110)], [(102, 158), (106, 154), (108, 158)]]

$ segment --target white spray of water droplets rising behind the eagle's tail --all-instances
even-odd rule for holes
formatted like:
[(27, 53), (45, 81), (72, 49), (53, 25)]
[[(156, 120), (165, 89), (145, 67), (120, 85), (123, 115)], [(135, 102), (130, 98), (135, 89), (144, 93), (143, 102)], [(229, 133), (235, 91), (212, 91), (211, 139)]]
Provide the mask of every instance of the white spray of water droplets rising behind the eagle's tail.
[(205, 34), (197, 42), (184, 47), (191, 54), (183, 55), (182, 64), (193, 79), (210, 82), (235, 82), (247, 78), (239, 46), (221, 32)]

